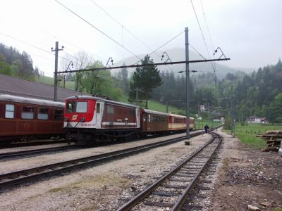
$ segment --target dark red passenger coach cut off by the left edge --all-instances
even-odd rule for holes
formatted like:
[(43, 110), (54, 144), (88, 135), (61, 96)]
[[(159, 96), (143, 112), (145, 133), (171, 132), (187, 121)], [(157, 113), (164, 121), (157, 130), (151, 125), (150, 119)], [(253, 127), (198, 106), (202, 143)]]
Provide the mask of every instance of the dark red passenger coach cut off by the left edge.
[(0, 95), (0, 143), (30, 137), (61, 136), (63, 103)]

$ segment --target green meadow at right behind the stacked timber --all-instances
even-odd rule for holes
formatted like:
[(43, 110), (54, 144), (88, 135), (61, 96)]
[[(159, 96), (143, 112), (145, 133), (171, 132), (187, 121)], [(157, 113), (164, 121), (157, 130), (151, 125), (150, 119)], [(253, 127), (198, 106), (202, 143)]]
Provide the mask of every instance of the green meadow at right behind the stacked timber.
[[(266, 147), (266, 141), (259, 137), (257, 134), (264, 134), (268, 130), (281, 130), (281, 125), (272, 124), (235, 124), (235, 134), (247, 146), (255, 149), (261, 149)], [(231, 133), (230, 130), (225, 130), (225, 132)]]

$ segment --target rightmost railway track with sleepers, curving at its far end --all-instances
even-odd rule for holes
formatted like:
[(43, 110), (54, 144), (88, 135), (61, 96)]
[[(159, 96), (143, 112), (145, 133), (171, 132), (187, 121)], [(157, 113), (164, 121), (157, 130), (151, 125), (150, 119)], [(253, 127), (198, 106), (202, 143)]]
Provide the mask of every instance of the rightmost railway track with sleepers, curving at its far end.
[(221, 143), (219, 134), (209, 133), (213, 137), (207, 144), (125, 203), (118, 211), (134, 209), (136, 205), (137, 210), (157, 210), (157, 207), (180, 210)]

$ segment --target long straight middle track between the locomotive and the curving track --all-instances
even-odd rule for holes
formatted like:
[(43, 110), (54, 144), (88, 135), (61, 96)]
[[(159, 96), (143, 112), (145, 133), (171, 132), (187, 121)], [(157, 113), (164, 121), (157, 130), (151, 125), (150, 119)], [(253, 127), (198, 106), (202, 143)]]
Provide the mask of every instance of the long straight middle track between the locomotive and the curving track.
[[(200, 134), (202, 134), (202, 132), (191, 134), (191, 136), (197, 136)], [(149, 143), (149, 144), (142, 145), (142, 146), (123, 149), (121, 151), (103, 153), (100, 155), (93, 155), (93, 156), (88, 156), (85, 158), (78, 158), (75, 160), (57, 162), (51, 165), (34, 167), (31, 169), (27, 169), (27, 170), (20, 170), (17, 172), (1, 174), (0, 175), (0, 190), (7, 191), (7, 188), (9, 186), (16, 186), (19, 184), (23, 184), (27, 181), (34, 182), (36, 179), (51, 177), (55, 174), (60, 174), (62, 172), (69, 172), (69, 171), (77, 170), (83, 167), (99, 165), (101, 163), (109, 162), (111, 160), (125, 158), (130, 155), (136, 155), (136, 153), (142, 153), (152, 148), (166, 146), (171, 143), (183, 141), (185, 138), (186, 136), (181, 136), (175, 139), (168, 139), (166, 141), (159, 141), (157, 143)]]

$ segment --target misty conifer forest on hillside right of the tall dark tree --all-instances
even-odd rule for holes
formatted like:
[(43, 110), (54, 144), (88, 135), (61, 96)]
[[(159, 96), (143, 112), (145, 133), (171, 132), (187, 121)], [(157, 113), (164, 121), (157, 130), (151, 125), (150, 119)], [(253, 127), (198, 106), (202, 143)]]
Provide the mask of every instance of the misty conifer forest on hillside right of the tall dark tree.
[[(161, 77), (163, 84), (154, 89), (152, 98), (185, 108), (185, 75), (176, 77), (173, 72), (162, 72)], [(257, 115), (271, 122), (282, 122), (281, 60), (251, 75), (240, 71), (228, 73), (219, 81), (212, 72), (191, 76), (189, 91), (192, 113), (198, 113), (199, 105), (203, 105), (212, 116), (230, 115), (233, 103), (236, 121)]]

